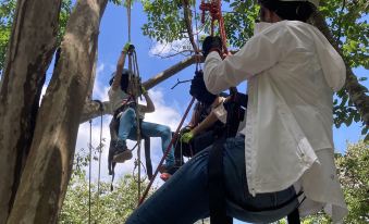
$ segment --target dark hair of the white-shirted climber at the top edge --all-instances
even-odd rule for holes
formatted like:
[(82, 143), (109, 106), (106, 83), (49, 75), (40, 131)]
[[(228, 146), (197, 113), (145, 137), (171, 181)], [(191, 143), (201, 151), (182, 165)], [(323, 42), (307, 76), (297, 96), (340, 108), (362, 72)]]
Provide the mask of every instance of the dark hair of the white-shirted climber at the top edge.
[(282, 20), (306, 22), (315, 5), (308, 1), (259, 0), (259, 3), (274, 12)]

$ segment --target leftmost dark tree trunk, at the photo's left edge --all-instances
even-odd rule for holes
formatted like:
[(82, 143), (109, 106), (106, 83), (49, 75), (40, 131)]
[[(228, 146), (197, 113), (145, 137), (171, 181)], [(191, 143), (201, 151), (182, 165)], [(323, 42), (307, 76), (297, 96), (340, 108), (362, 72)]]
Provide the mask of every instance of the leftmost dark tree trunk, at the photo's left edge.
[[(19, 0), (0, 89), (0, 223), (5, 223), (33, 139), (61, 0)], [(42, 10), (42, 13), (40, 11)]]

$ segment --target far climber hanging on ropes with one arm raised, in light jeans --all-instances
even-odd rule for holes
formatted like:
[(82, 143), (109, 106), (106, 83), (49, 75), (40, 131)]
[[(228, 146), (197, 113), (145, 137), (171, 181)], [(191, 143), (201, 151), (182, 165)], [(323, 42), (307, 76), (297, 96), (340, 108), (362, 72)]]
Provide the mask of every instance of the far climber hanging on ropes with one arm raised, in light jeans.
[[(138, 83), (139, 80), (136, 80), (136, 77), (130, 74), (128, 70), (123, 69), (125, 55), (127, 54), (130, 47), (131, 45), (128, 43), (124, 47), (118, 60), (116, 72), (109, 82), (111, 85), (108, 92), (109, 100), (111, 102), (112, 110), (114, 111), (114, 116), (110, 124), (112, 141), (110, 144), (108, 158), (109, 170), (111, 169), (112, 162), (124, 162), (132, 158), (132, 152), (127, 149), (126, 140), (137, 139), (135, 107), (137, 107), (137, 111), (139, 113), (138, 116), (140, 120), (139, 125), (142, 133), (146, 137), (161, 137), (163, 152), (172, 139), (170, 127), (143, 121), (145, 113), (151, 113), (155, 111), (155, 105), (144, 87), (142, 87), (140, 92), (136, 92), (137, 90), (134, 89), (135, 85), (133, 85), (133, 83)], [(146, 105), (136, 105), (134, 97), (139, 94), (144, 96), (147, 103)], [(114, 132), (118, 133), (116, 136)], [(116, 139), (114, 139), (114, 137), (116, 137)], [(173, 165), (174, 151), (171, 149), (170, 153), (165, 158), (164, 169), (171, 169)]]

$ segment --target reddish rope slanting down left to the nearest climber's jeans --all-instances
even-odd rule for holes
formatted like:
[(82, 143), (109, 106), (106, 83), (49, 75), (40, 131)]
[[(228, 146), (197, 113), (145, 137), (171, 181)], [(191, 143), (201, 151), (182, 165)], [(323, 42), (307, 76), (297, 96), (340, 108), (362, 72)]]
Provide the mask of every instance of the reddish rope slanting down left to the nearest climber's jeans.
[(152, 179), (150, 181), (150, 183), (148, 184), (148, 186), (146, 187), (146, 189), (145, 189), (145, 191), (144, 191), (144, 194), (143, 194), (143, 197), (140, 198), (140, 200), (139, 200), (139, 202), (138, 202), (138, 206), (142, 204), (142, 203), (144, 202), (144, 200), (145, 200), (147, 194), (149, 192), (149, 189), (150, 189), (150, 187), (151, 187), (151, 185), (152, 185), (155, 178), (157, 177), (157, 175), (158, 175), (158, 173), (159, 173), (159, 167), (160, 167), (160, 166), (162, 165), (162, 163), (164, 162), (164, 159), (165, 159), (167, 155), (169, 154), (169, 152), (170, 152), (170, 150), (171, 150), (171, 148), (172, 148), (172, 146), (173, 146), (173, 142), (174, 142), (174, 141), (176, 140), (176, 138), (179, 137), (180, 129), (181, 129), (181, 127), (182, 127), (182, 125), (183, 125), (183, 122), (184, 122), (184, 120), (186, 119), (186, 116), (187, 116), (187, 114), (188, 114), (190, 108), (193, 107), (194, 101), (195, 101), (195, 98), (193, 97), (193, 99), (190, 100), (190, 102), (189, 102), (189, 104), (188, 104), (188, 107), (187, 107), (187, 109), (186, 109), (186, 111), (185, 111), (185, 113), (184, 113), (184, 115), (183, 115), (183, 117), (182, 117), (182, 120), (181, 120), (181, 122), (180, 122), (180, 124), (179, 124), (179, 126), (177, 126), (175, 133), (174, 133), (174, 136), (173, 136), (171, 142), (169, 144), (169, 146), (168, 146), (168, 148), (167, 148), (164, 154), (162, 155), (162, 158), (161, 158), (161, 160), (160, 160), (160, 162), (159, 162), (159, 164), (158, 164), (157, 170), (155, 171), (155, 173), (153, 173), (153, 175), (152, 175)]

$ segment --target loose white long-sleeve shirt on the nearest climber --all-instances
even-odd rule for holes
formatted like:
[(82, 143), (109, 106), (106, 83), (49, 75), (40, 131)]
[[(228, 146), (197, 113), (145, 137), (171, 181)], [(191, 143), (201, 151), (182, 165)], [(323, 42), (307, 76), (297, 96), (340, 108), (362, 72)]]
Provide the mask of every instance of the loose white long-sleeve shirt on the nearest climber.
[(333, 91), (344, 85), (340, 54), (313, 26), (297, 21), (256, 24), (255, 36), (223, 61), (211, 52), (205, 83), (219, 94), (248, 80), (245, 134), (249, 191), (300, 185), (300, 214), (324, 208), (334, 222), (347, 213), (333, 159)]

